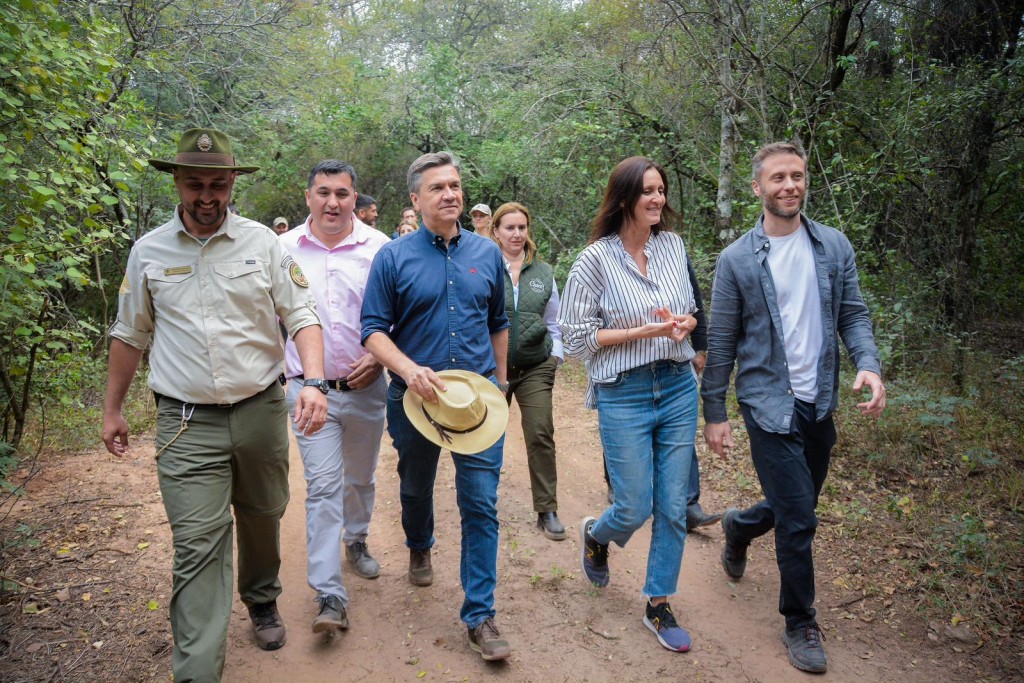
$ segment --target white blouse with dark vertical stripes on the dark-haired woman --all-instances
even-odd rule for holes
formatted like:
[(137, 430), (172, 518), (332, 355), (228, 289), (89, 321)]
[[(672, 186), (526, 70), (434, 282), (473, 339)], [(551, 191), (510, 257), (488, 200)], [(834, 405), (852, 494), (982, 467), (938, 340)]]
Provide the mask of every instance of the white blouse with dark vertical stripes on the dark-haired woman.
[(588, 408), (596, 408), (595, 382), (611, 382), (618, 373), (656, 360), (687, 362), (695, 355), (689, 338), (683, 342), (668, 337), (635, 339), (612, 346), (597, 343), (598, 330), (662, 323), (654, 313), (658, 306), (677, 315), (694, 312), (682, 239), (667, 230), (651, 234), (644, 254), (646, 278), (617, 234), (601, 238), (580, 253), (565, 281), (558, 325), (565, 352), (587, 367)]

